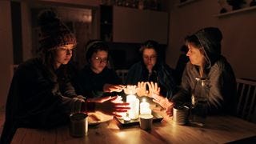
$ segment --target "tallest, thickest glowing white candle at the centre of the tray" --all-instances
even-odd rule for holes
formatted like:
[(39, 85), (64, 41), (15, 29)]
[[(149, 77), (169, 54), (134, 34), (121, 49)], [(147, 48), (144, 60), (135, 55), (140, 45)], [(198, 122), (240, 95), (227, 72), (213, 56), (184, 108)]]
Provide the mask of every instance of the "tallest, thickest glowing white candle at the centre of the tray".
[(130, 110), (128, 110), (129, 118), (137, 119), (139, 110), (139, 100), (135, 95), (127, 95), (126, 102), (130, 103)]

